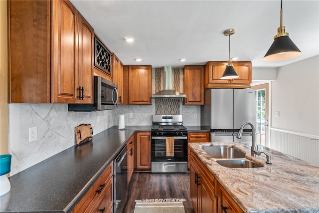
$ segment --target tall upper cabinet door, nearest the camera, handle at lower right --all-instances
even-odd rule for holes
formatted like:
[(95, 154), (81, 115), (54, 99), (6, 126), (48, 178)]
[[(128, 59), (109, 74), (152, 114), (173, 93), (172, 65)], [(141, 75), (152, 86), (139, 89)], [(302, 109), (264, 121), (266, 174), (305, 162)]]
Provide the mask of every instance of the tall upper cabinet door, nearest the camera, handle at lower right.
[(77, 103), (77, 11), (69, 1), (54, 0), (51, 3), (51, 101)]

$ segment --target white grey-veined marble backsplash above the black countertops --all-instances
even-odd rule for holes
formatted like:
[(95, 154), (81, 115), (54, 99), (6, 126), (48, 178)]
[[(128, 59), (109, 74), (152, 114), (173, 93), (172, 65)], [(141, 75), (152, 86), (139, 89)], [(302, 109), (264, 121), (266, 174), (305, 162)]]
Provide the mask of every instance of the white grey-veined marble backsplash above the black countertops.
[[(9, 104), (10, 176), (76, 144), (74, 127), (91, 124), (94, 135), (119, 124), (152, 125), (153, 105), (119, 105), (115, 110), (69, 112), (67, 104)], [(182, 106), (183, 124), (200, 125), (200, 106)], [(130, 113), (133, 118), (130, 118)], [(194, 118), (194, 113), (197, 118)], [(98, 119), (99, 117), (99, 119)], [(99, 123), (98, 123), (99, 120)], [(37, 127), (37, 140), (29, 143), (29, 128)]]

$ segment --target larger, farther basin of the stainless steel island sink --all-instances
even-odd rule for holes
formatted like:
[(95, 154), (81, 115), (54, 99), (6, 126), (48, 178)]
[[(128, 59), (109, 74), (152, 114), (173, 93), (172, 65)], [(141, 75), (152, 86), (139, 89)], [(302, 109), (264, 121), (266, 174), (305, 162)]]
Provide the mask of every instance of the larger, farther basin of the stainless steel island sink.
[(244, 152), (232, 147), (201, 145), (200, 148), (202, 148), (210, 157), (216, 159), (245, 158)]

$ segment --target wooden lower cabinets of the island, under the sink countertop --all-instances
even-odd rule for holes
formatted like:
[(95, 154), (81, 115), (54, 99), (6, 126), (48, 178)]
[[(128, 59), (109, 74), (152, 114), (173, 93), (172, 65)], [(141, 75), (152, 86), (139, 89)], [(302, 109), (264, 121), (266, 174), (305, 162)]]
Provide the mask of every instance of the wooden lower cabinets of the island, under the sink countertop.
[(244, 213), (192, 151), (189, 165), (190, 200), (195, 213)]

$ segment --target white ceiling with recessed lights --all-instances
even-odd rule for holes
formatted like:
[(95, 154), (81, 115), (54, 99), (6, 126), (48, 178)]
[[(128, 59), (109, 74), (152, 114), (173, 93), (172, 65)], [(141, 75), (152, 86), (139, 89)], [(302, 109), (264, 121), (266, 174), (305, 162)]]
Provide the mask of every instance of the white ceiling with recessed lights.
[[(295, 59), (263, 57), (280, 26), (280, 0), (71, 0), (123, 64), (202, 65), (231, 57), (253, 67), (280, 67), (319, 54), (319, 0), (283, 0), (283, 25), (303, 52)], [(127, 43), (133, 36), (134, 43)], [(136, 62), (135, 58), (142, 58)], [(186, 58), (180, 62), (179, 58)]]

